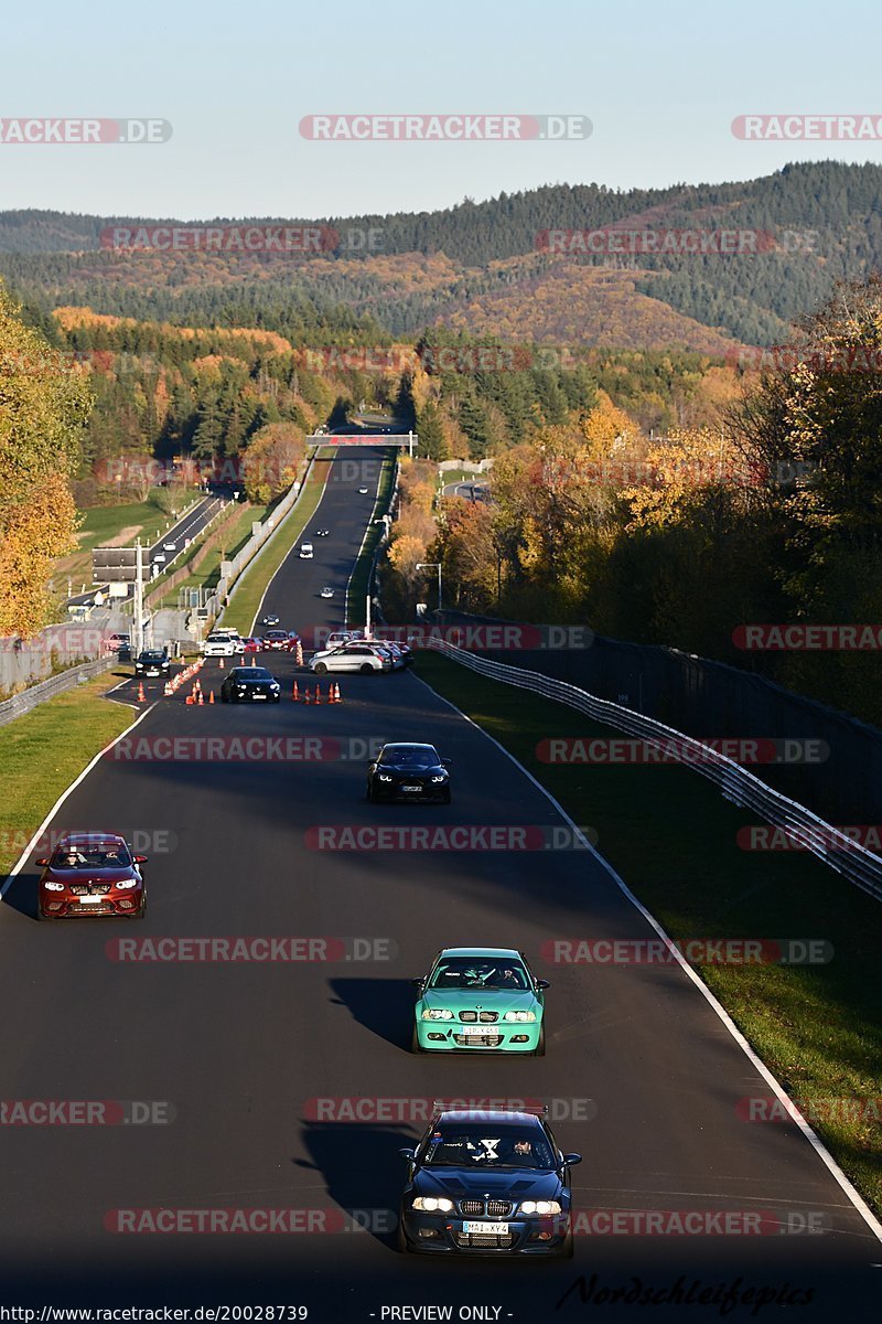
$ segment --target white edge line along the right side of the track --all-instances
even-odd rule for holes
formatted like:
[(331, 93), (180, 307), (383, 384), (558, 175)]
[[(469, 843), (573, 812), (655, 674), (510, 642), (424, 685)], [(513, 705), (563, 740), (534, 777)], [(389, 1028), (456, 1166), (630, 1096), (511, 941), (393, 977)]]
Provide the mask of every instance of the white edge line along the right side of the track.
[[(662, 927), (659, 923), (659, 920), (653, 915), (651, 915), (651, 912), (647, 910), (647, 907), (640, 900), (637, 900), (637, 898), (633, 895), (633, 892), (631, 891), (631, 888), (628, 887), (628, 884), (615, 871), (615, 869), (612, 867), (612, 865), (610, 863), (610, 861), (606, 859), (600, 854), (600, 851), (595, 846), (592, 846), (591, 842), (583, 835), (582, 829), (578, 826), (578, 824), (573, 822), (573, 820), (570, 818), (570, 816), (566, 812), (566, 809), (563, 808), (563, 805), (561, 805), (554, 798), (554, 796), (547, 789), (547, 786), (543, 786), (542, 782), (538, 781), (533, 776), (533, 773), (529, 771), (529, 768), (525, 768), (524, 764), (520, 763), (518, 759), (516, 759), (514, 755), (509, 749), (505, 748), (505, 745), (500, 744), (500, 741), (495, 736), (492, 736), (489, 733), (489, 731), (485, 731), (481, 726), (477, 724), (477, 722), (475, 722), (472, 718), (469, 718), (467, 712), (463, 712), (461, 708), (458, 708), (455, 703), (452, 703), (450, 699), (444, 698), (443, 694), (438, 694), (436, 690), (432, 690), (431, 685), (428, 685), (427, 681), (423, 681), (422, 677), (418, 675), (418, 677), (415, 677), (415, 679), (419, 681), (421, 685), (424, 685), (427, 690), (431, 690), (431, 692), (434, 695), (436, 695), (436, 698), (439, 698), (442, 700), (442, 703), (446, 703), (450, 708), (454, 710), (454, 712), (458, 712), (460, 715), (460, 718), (464, 718), (464, 720), (468, 722), (469, 726), (475, 727), (476, 731), (480, 731), (480, 733), (483, 736), (485, 736), (488, 740), (491, 740), (492, 744), (495, 744), (496, 748), (500, 749), (505, 755), (506, 759), (510, 759), (510, 761), (514, 764), (514, 767), (518, 768), (524, 773), (525, 777), (529, 777), (529, 780), (533, 782), (533, 785), (538, 790), (542, 792), (542, 794), (546, 797), (546, 800), (549, 800), (550, 804), (554, 805), (554, 808), (561, 814), (561, 817), (563, 818), (563, 821), (570, 828), (573, 828), (573, 830), (575, 831), (577, 837), (582, 842), (584, 842), (584, 846), (594, 855), (594, 858), (598, 861), (598, 863), (600, 865), (600, 867), (604, 869), (610, 874), (610, 876), (612, 878), (612, 880), (621, 890), (623, 895), (627, 896), (627, 899), (631, 902), (631, 904), (637, 911), (640, 911), (640, 914), (643, 915), (643, 918), (656, 931), (656, 933), (659, 935), (659, 937), (661, 937), (665, 943), (669, 944), (670, 951), (672, 951), (674, 959), (677, 960), (677, 964), (680, 965), (680, 968), (692, 980), (692, 982), (696, 985), (696, 988), (700, 989), (702, 997), (707, 1001), (707, 1004), (710, 1005), (710, 1008), (717, 1013), (717, 1016), (719, 1017), (719, 1019), (722, 1021), (722, 1023), (725, 1025), (725, 1027), (731, 1034), (731, 1037), (735, 1041), (735, 1043), (739, 1046), (739, 1049), (742, 1049), (742, 1051), (744, 1053), (744, 1055), (748, 1058), (751, 1066), (755, 1067), (755, 1070), (762, 1075), (763, 1080), (766, 1080), (766, 1083), (775, 1091), (775, 1096), (778, 1098), (779, 1103), (784, 1104), (785, 1111), (787, 1111), (788, 1116), (791, 1117), (791, 1120), (795, 1121), (796, 1125), (799, 1127), (799, 1129), (803, 1132), (803, 1136), (805, 1137), (805, 1140), (808, 1140), (809, 1145), (816, 1152), (816, 1155), (819, 1156), (819, 1158), (821, 1160), (821, 1162), (825, 1165), (825, 1168), (829, 1170), (829, 1173), (834, 1178), (834, 1181), (838, 1182), (838, 1185), (841, 1186), (841, 1189), (844, 1190), (844, 1193), (848, 1196), (848, 1198), (850, 1200), (850, 1202), (854, 1206), (854, 1209), (857, 1210), (857, 1213), (863, 1218), (863, 1222), (867, 1225), (867, 1227), (870, 1229), (870, 1231), (873, 1233), (873, 1235), (877, 1238), (877, 1241), (882, 1242), (882, 1223), (875, 1217), (875, 1214), (873, 1213), (873, 1210), (870, 1209), (870, 1206), (866, 1204), (866, 1201), (863, 1200), (863, 1197), (860, 1194), (860, 1192), (856, 1189), (856, 1186), (853, 1186), (852, 1182), (849, 1181), (849, 1178), (845, 1176), (845, 1173), (842, 1172), (842, 1169), (837, 1164), (837, 1161), (833, 1157), (833, 1155), (828, 1151), (828, 1148), (824, 1144), (824, 1141), (812, 1131), (812, 1128), (805, 1121), (805, 1119), (799, 1112), (796, 1112), (796, 1106), (793, 1104), (792, 1099), (787, 1095), (784, 1087), (775, 1079), (775, 1076), (772, 1075), (772, 1072), (770, 1071), (770, 1068), (756, 1055), (756, 1053), (754, 1051), (754, 1049), (751, 1049), (750, 1043), (747, 1042), (747, 1039), (744, 1038), (744, 1035), (741, 1033), (741, 1030), (738, 1029), (738, 1026), (735, 1025), (735, 1022), (730, 1017), (729, 1012), (718, 1001), (718, 998), (711, 993), (711, 990), (707, 988), (707, 985), (703, 982), (703, 980), (701, 980), (698, 977), (698, 974), (693, 970), (693, 968), (682, 959), (681, 952), (677, 949), (677, 947), (673, 943), (673, 939), (670, 939), (665, 933), (665, 931), (662, 929)], [(501, 683), (504, 683), (504, 682), (501, 682)]]

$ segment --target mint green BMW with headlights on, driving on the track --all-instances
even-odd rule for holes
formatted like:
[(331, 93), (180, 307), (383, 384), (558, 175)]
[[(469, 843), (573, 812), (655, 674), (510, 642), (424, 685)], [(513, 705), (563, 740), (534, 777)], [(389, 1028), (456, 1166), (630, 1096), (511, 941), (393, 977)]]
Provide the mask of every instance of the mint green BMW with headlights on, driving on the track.
[(545, 989), (522, 952), (446, 947), (417, 989), (411, 1053), (545, 1055)]

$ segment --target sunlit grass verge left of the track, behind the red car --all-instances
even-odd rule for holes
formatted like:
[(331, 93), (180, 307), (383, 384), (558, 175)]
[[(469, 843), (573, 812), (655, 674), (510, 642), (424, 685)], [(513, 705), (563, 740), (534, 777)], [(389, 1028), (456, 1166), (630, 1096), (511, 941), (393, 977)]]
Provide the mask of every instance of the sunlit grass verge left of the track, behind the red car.
[(131, 726), (131, 708), (102, 699), (131, 673), (114, 667), (0, 727), (0, 875), (8, 874), (74, 777)]

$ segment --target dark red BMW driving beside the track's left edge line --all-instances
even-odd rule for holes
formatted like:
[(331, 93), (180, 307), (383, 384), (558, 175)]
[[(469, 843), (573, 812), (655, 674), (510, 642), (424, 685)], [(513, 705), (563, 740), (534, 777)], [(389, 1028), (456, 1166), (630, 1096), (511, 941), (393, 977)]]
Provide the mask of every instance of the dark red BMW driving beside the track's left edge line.
[(41, 858), (37, 918), (65, 919), (116, 915), (141, 919), (147, 912), (147, 886), (141, 865), (118, 833), (67, 833), (53, 854)]

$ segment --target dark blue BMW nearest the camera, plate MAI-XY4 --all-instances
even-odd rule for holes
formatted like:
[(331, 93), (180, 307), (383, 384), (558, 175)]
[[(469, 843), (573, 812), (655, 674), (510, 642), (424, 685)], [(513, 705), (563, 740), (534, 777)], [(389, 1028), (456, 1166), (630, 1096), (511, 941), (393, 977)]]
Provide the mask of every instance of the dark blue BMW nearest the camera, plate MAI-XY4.
[(570, 1169), (537, 1112), (436, 1107), (415, 1149), (398, 1249), (436, 1255), (573, 1256)]

